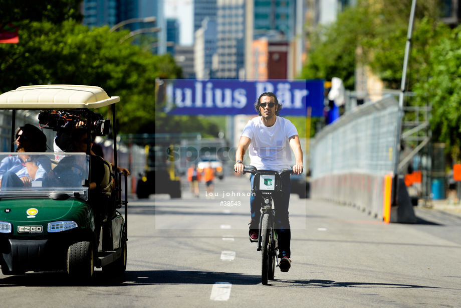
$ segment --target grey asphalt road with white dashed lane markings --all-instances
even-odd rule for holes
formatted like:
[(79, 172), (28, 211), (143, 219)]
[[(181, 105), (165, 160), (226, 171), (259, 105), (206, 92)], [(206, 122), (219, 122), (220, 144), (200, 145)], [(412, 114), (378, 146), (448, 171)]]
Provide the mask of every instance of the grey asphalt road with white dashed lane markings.
[(384, 224), (351, 206), (292, 195), (292, 268), (276, 269), (264, 286), (261, 253), (248, 240), (249, 197), (241, 196), (248, 180), (218, 181), (214, 199), (200, 188), (198, 199), (186, 189), (179, 200), (130, 201), (123, 280), (101, 270), (89, 286), (56, 273), (2, 275), (0, 306), (461, 306), (458, 216), (417, 209), (418, 224)]

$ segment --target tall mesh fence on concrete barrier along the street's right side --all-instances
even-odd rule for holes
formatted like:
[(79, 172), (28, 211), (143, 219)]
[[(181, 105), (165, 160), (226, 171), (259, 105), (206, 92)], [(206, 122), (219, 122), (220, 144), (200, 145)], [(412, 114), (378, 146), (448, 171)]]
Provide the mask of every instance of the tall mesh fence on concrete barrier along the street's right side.
[(346, 112), (311, 144), (311, 197), (383, 217), (384, 177), (395, 166), (398, 102), (391, 96)]

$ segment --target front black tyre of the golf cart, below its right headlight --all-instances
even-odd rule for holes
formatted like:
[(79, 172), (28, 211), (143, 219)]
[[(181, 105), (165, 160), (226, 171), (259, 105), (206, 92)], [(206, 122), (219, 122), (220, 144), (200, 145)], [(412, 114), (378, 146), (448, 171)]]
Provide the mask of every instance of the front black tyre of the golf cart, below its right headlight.
[(94, 253), (91, 242), (72, 244), (67, 250), (67, 272), (71, 278), (89, 281), (93, 277)]

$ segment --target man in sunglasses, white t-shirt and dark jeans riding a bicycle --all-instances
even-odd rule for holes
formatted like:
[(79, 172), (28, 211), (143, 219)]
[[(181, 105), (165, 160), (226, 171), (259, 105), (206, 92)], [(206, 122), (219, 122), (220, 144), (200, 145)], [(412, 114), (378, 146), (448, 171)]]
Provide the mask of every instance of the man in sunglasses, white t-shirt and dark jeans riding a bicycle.
[[(303, 172), (303, 151), (299, 141), (298, 131), (289, 120), (279, 117), (282, 105), (274, 93), (266, 92), (260, 95), (255, 103), (255, 109), (259, 117), (248, 121), (236, 152), (236, 164), (234, 170), (237, 173), (244, 171), (243, 159), (247, 149), (251, 165), (258, 170), (279, 171), (284, 168), (291, 168), (291, 149), (295, 153), (296, 164), (293, 166), (295, 174)], [(291, 147), (291, 149), (290, 149)], [(253, 188), (254, 176), (250, 176), (251, 187)], [(276, 228), (279, 238), (279, 251), (281, 261), (279, 267), (286, 272), (291, 267), (290, 260), (290, 220), (288, 204), (290, 202), (291, 182), (290, 175), (282, 177), (282, 197), (274, 199), (276, 213)], [(250, 241), (258, 242), (259, 213), (262, 199), (258, 196), (250, 197)], [(258, 213), (258, 214), (257, 214)]]

